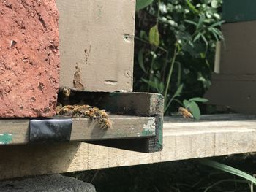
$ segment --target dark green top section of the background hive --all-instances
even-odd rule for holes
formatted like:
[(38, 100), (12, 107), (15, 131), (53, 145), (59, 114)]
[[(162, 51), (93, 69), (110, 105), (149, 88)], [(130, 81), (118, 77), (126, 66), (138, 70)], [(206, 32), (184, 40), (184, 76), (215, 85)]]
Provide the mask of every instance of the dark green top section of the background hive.
[(256, 20), (256, 1), (223, 0), (222, 20), (227, 23)]

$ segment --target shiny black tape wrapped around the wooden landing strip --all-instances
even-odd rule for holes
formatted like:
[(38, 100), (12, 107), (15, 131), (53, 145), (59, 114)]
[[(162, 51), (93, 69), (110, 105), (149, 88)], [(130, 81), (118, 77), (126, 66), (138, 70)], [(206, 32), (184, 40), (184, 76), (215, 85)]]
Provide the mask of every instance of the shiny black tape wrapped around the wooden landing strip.
[(69, 142), (72, 119), (41, 119), (29, 121), (29, 142)]

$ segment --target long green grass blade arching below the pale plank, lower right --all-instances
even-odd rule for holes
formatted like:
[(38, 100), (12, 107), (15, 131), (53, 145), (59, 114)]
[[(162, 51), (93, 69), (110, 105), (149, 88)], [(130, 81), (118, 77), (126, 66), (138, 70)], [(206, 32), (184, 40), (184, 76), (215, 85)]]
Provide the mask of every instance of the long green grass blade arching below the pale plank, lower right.
[(215, 169), (222, 170), (223, 172), (227, 172), (230, 174), (235, 174), (238, 177), (242, 177), (250, 182), (252, 182), (254, 185), (256, 185), (256, 178), (252, 177), (252, 175), (247, 174), (246, 172), (242, 172), (239, 169), (233, 168), (232, 166), (227, 166), (225, 164), (220, 164), (217, 161), (211, 161), (208, 159), (202, 159), (198, 160), (201, 164), (205, 164), (207, 166), (211, 166)]

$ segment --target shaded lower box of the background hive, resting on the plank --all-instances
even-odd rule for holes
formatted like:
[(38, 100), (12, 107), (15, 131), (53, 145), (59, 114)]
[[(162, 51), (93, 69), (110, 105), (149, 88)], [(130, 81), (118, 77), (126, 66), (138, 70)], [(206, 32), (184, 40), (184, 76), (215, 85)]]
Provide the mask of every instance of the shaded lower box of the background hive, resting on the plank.
[(256, 74), (212, 74), (206, 92), (208, 104), (229, 107), (234, 112), (255, 113)]

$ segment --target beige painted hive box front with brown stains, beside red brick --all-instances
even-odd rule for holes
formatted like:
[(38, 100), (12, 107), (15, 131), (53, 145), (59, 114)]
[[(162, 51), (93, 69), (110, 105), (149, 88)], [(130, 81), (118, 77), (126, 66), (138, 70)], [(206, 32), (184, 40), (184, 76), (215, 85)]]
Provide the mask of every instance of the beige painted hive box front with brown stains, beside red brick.
[(60, 85), (132, 91), (135, 0), (57, 0)]

